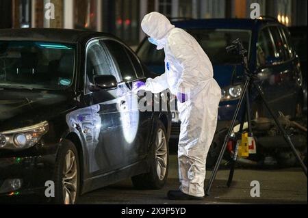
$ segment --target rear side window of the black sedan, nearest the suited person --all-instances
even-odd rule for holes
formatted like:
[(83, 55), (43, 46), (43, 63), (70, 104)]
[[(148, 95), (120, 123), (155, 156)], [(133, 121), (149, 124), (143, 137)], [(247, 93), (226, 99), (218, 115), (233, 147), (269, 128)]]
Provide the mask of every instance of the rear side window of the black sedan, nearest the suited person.
[(103, 44), (105, 44), (112, 56), (114, 64), (122, 76), (122, 80), (126, 82), (137, 79), (135, 68), (133, 68), (131, 59), (127, 55), (124, 46), (114, 40), (103, 40)]

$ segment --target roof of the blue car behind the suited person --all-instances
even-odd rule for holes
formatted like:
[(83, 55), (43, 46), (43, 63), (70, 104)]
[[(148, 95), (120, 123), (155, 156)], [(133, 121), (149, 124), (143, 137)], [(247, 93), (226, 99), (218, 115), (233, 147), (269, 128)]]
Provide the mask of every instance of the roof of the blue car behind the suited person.
[(172, 22), (175, 27), (183, 29), (259, 29), (262, 25), (276, 24), (273, 19), (245, 19), (245, 18), (211, 18), (211, 19), (187, 19)]

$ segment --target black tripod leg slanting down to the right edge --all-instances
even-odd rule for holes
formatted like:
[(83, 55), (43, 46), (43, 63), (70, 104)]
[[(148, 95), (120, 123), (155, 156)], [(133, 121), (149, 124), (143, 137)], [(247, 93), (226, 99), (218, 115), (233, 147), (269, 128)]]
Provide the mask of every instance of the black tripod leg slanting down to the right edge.
[(259, 92), (259, 95), (264, 103), (264, 105), (266, 106), (266, 109), (268, 109), (268, 112), (270, 112), (270, 115), (272, 116), (272, 118), (274, 119), (274, 122), (277, 124), (279, 130), (281, 131), (281, 133), (283, 133), (283, 137), (285, 138), (285, 141), (287, 142), (287, 144), (289, 144), (294, 156), (296, 157), (296, 159), (298, 160), (298, 162), (300, 163), (300, 166), (302, 167), (306, 177), (307, 177), (307, 167), (305, 166), (305, 163), (303, 162), (302, 159), (300, 159), (300, 156), (298, 155), (298, 153), (296, 152), (296, 148), (294, 146), (294, 144), (292, 143), (292, 140), (290, 138), (289, 135), (287, 135), (287, 133), (285, 132), (285, 130), (283, 129), (283, 126), (281, 126), (281, 124), (279, 123), (279, 121), (277, 120), (276, 116), (274, 115), (274, 113), (272, 112), (272, 109), (270, 109), (270, 106), (268, 105), (268, 103), (266, 102), (266, 99), (264, 98), (264, 94), (261, 90), (261, 88), (259, 87), (259, 85), (253, 83), (253, 85), (255, 86), (257, 92)]

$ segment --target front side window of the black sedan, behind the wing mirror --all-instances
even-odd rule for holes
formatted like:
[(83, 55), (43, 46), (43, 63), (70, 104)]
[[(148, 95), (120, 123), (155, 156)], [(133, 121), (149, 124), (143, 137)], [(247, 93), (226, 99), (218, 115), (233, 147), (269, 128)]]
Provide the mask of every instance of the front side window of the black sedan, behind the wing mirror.
[[(110, 62), (110, 58), (101, 46), (99, 40), (91, 42), (87, 49), (86, 55), (86, 81), (87, 85), (94, 83), (94, 76), (109, 74), (116, 77), (117, 81), (120, 81), (116, 70)], [(89, 83), (90, 82), (90, 83)]]

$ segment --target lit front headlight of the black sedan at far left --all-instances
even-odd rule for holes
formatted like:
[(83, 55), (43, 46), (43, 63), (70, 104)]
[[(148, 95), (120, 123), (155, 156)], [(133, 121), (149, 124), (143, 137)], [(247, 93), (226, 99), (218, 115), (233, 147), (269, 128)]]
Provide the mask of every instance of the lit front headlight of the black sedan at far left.
[(48, 130), (49, 124), (44, 121), (33, 126), (5, 131), (0, 133), (0, 148), (10, 150), (30, 148), (37, 144)]

